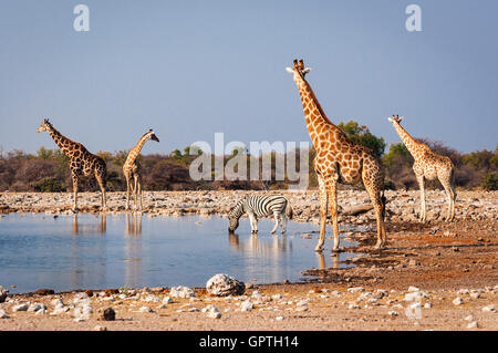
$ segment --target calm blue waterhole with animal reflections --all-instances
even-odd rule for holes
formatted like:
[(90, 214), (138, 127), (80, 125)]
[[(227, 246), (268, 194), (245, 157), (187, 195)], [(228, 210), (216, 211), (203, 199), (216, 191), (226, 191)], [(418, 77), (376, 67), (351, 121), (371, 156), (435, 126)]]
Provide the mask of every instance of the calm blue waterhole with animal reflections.
[(10, 292), (204, 287), (216, 273), (273, 283), (303, 280), (302, 270), (341, 267), (353, 256), (342, 252), (334, 261), (331, 239), (324, 255), (315, 253), (318, 236), (309, 235), (318, 225), (290, 221), (287, 236), (270, 235), (271, 219), (258, 221), (258, 236), (250, 235), (246, 218), (235, 235), (227, 227), (220, 217), (6, 215), (0, 218), (0, 285)]

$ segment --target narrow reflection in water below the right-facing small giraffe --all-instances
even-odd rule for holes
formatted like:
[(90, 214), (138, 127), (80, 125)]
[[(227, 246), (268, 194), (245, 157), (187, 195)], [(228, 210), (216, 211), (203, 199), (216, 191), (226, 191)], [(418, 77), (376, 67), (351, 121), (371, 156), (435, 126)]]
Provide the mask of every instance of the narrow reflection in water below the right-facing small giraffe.
[[(133, 218), (133, 219), (132, 219)], [(125, 240), (125, 284), (135, 287), (141, 282), (142, 272), (142, 215), (133, 212), (126, 214)]]

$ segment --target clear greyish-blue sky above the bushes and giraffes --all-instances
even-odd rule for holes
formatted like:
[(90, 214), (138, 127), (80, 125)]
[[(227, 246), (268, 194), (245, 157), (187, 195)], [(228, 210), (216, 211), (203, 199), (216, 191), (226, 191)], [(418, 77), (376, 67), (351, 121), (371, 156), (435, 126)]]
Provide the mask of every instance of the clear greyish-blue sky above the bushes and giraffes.
[[(73, 8), (90, 8), (90, 32)], [(422, 32), (405, 8), (422, 8)], [(498, 1), (0, 2), (0, 146), (54, 148), (49, 117), (91, 152), (132, 147), (154, 128), (168, 153), (206, 141), (310, 141), (292, 76), (329, 118), (397, 143), (386, 117), (460, 150), (498, 139)]]

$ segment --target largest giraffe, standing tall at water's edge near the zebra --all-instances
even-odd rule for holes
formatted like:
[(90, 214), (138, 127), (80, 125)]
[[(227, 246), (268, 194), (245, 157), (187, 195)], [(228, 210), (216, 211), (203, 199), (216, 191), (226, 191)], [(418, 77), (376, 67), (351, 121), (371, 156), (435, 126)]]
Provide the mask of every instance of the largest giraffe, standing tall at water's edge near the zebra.
[(320, 239), (315, 251), (321, 251), (325, 241), (325, 222), (328, 204), (332, 216), (334, 231), (333, 251), (339, 251), (338, 226), (338, 183), (356, 184), (363, 181), (374, 206), (377, 221), (376, 249), (386, 246), (384, 225), (384, 169), (374, 153), (366, 147), (351, 142), (323, 112), (317, 96), (304, 75), (311, 71), (304, 69), (304, 62), (294, 60), (293, 68), (287, 68), (293, 74), (299, 89), (304, 111), (305, 123), (311, 141), (317, 150), (313, 167), (317, 173), (320, 190)]

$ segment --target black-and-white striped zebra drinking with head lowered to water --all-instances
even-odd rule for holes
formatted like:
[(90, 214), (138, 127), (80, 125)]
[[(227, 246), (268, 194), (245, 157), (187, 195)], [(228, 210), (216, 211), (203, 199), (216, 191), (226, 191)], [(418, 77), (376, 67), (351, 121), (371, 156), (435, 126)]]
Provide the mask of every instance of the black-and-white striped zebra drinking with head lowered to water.
[(288, 219), (292, 219), (292, 207), (287, 198), (279, 195), (257, 195), (247, 196), (239, 200), (237, 205), (228, 212), (228, 231), (234, 232), (239, 227), (239, 218), (247, 214), (251, 222), (251, 233), (258, 232), (258, 217), (273, 215), (274, 227), (271, 233), (274, 233), (282, 222), (282, 235), (287, 230)]

